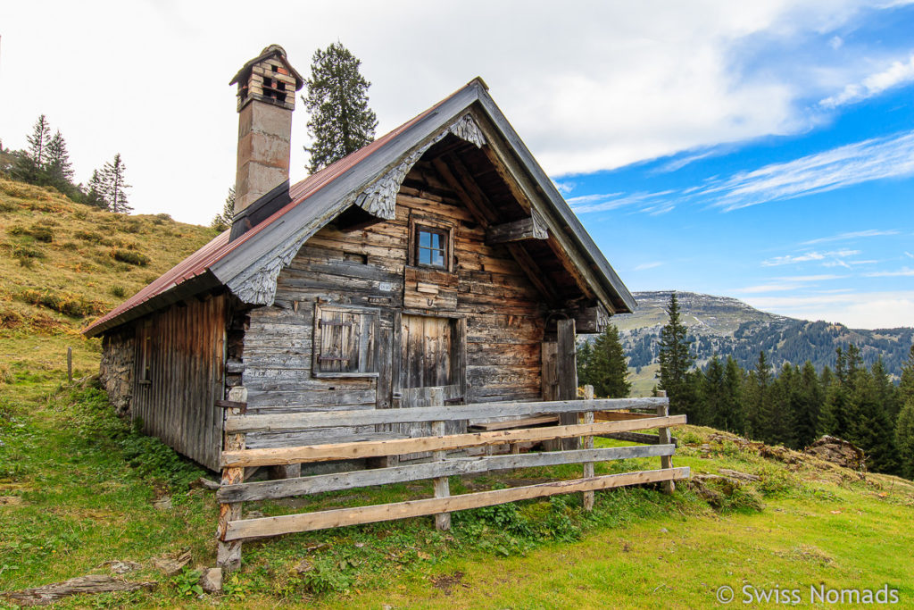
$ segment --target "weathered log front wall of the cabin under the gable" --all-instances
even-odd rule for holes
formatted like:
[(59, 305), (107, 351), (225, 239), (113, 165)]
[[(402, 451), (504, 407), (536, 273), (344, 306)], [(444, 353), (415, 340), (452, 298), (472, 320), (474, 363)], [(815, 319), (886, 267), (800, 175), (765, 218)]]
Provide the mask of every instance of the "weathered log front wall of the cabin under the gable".
[[(417, 221), (452, 228), (452, 270), (410, 264), (409, 235)], [(324, 227), (280, 274), (274, 305), (250, 311), (243, 372), (248, 412), (397, 406), (391, 360), (404, 311), (465, 318), (464, 401), (540, 400), (542, 301), (505, 246), (486, 245), (484, 228), (435, 180), (430, 164), (420, 161), (400, 188), (395, 219), (361, 228), (345, 228), (345, 222)], [(377, 309), (377, 376), (314, 376), (315, 304)], [(250, 433), (247, 446), (371, 432)]]

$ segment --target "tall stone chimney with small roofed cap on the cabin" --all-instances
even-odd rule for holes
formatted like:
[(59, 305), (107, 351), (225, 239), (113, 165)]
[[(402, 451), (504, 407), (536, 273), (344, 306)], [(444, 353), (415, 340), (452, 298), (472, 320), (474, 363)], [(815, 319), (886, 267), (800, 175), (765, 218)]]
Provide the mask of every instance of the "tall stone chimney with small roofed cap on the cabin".
[[(238, 83), (238, 172), (235, 215), (289, 179), (292, 111), (295, 91), (304, 79), (286, 59), (285, 50), (270, 45), (239, 70), (228, 84)], [(243, 214), (242, 214), (243, 216)]]

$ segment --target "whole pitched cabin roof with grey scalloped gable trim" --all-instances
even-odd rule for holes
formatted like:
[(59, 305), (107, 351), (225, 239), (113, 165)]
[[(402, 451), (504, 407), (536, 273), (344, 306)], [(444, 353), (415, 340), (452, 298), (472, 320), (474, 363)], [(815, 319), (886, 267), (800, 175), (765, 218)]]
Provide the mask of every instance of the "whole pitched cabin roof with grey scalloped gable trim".
[(540, 215), (558, 223), (550, 229), (572, 254), (581, 281), (592, 286), (609, 311), (633, 309), (632, 295), (477, 78), (408, 123), (293, 185), (289, 203), (281, 209), (235, 240), (229, 241), (229, 231), (219, 235), (84, 332), (98, 335), (183, 298), (178, 294), (219, 284), (244, 303), (271, 305), (276, 278), (304, 241), (354, 205), (379, 219), (392, 218), (403, 177), (448, 134), (477, 147), (492, 146), (515, 177), (515, 186), (524, 190), (523, 197)]

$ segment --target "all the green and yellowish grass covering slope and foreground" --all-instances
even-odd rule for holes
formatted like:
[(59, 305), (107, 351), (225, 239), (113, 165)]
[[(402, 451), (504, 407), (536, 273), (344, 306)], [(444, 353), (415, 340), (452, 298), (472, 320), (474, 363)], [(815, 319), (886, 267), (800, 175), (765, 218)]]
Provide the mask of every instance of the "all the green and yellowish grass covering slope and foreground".
[[(57, 219), (39, 225), (53, 227), (53, 241), (5, 230), (32, 227), (36, 217)], [(814, 460), (772, 462), (693, 426), (675, 431), (685, 444), (676, 466), (696, 474), (731, 468), (761, 480), (716, 508), (684, 485), (673, 496), (622, 488), (598, 492), (592, 513), (572, 495), (455, 513), (447, 533), (422, 518), (247, 542), (224, 594), (198, 597), (196, 574), (215, 562), (218, 506), (212, 492), (187, 484), (204, 471), (112, 415), (89, 379), (101, 346), (79, 335), (88, 317), (17, 294), (69, 292), (106, 309), (212, 233), (164, 216), (112, 217), (3, 180), (0, 225), (0, 240), (44, 257), (28, 257), (34, 263), (27, 268), (0, 246), (0, 591), (108, 573), (105, 562), (118, 560), (141, 566), (127, 579), (154, 580), (158, 588), (74, 597), (57, 607), (692, 608), (714, 606), (725, 584), (739, 595), (746, 584), (799, 586), (808, 598), (805, 588), (820, 583), (888, 583), (900, 606), (914, 607), (910, 482)], [(142, 271), (115, 262), (112, 247), (145, 252), (150, 262)], [(67, 347), (78, 378), (72, 386)], [(457, 494), (575, 476), (579, 466), (531, 468), (453, 477), (451, 487)], [(245, 511), (281, 515), (430, 495), (430, 482), (420, 481), (247, 503)], [(165, 497), (170, 508), (156, 508)], [(154, 558), (186, 550), (193, 559), (182, 573), (167, 577), (154, 567)]]

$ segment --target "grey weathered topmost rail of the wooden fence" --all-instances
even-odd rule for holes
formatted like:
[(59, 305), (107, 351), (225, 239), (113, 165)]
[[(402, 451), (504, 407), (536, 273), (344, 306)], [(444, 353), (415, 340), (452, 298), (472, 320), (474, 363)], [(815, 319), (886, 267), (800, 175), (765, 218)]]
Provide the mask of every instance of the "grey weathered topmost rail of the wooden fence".
[(520, 417), (550, 413), (617, 411), (639, 406), (655, 409), (664, 398), (596, 399), (585, 406), (582, 401), (477, 402), (447, 407), (416, 407), (396, 411), (335, 411), (290, 413), (282, 415), (245, 415), (226, 418), (226, 432), (279, 432), (340, 425), (378, 423), (435, 422), (438, 420), (481, 420), (486, 417)]

